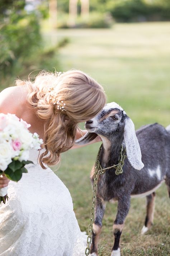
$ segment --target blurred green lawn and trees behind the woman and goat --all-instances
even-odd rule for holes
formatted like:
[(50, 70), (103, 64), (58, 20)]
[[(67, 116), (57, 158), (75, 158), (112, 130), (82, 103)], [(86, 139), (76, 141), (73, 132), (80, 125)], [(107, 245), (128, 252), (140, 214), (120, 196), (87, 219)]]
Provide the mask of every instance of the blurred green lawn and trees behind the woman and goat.
[[(169, 0), (0, 0), (0, 89), (41, 69), (81, 69), (122, 105), (136, 128), (170, 124)], [(71, 192), (80, 228), (91, 206), (89, 174), (100, 143), (62, 155), (56, 174)], [(110, 254), (117, 204), (108, 204), (99, 255)], [(140, 236), (145, 198), (133, 199), (122, 255), (170, 255), (170, 204), (157, 190), (154, 226)]]

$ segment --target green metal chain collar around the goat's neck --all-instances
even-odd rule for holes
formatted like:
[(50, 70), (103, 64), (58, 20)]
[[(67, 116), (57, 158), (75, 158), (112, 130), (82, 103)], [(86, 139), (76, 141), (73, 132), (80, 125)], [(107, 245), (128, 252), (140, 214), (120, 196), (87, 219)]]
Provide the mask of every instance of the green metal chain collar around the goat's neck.
[(99, 148), (99, 152), (97, 154), (97, 157), (96, 157), (96, 162), (95, 162), (95, 169), (98, 170), (98, 174), (104, 174), (106, 170), (108, 169), (111, 169), (111, 168), (114, 168), (116, 169), (115, 170), (115, 174), (116, 175), (119, 175), (119, 174), (122, 174), (123, 172), (123, 165), (124, 165), (124, 160), (126, 158), (126, 148), (123, 149), (123, 145), (121, 145), (121, 150), (120, 150), (120, 155), (119, 155), (119, 163), (117, 165), (112, 165), (112, 166), (109, 166), (107, 168), (102, 168), (102, 166), (100, 165), (100, 161), (99, 161), (99, 156), (100, 156), (100, 151), (101, 151), (101, 148), (103, 146), (103, 143), (101, 144), (100, 148)]

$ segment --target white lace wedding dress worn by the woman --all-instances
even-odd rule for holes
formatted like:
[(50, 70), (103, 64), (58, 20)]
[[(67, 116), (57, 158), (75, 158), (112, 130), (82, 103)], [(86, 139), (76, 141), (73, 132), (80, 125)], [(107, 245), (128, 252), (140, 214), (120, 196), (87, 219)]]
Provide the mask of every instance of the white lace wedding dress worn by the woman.
[(51, 169), (30, 152), (18, 183), (9, 182), (6, 204), (0, 204), (0, 256), (84, 256), (85, 246), (69, 190)]

